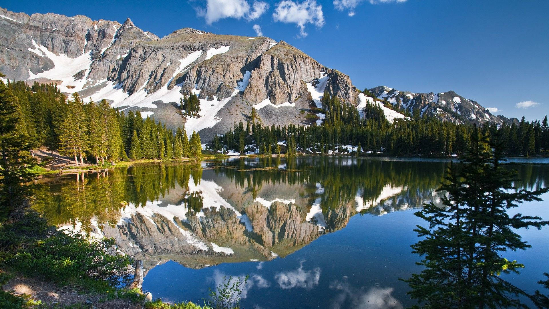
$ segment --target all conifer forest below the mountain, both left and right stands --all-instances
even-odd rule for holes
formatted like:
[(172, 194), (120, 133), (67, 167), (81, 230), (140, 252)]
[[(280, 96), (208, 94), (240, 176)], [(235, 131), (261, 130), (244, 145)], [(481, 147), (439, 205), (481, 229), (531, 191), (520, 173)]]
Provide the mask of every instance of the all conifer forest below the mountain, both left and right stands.
[[(54, 84), (35, 82), (28, 86), (14, 81), (8, 82), (7, 88), (18, 99), (21, 129), (32, 146), (59, 151), (73, 157), (77, 165), (85, 161), (105, 164), (202, 156), (200, 136), (195, 132), (189, 136), (184, 127), (173, 132), (152, 118), (143, 119), (140, 112), (119, 112), (105, 100), (98, 104), (85, 102), (77, 93), (66, 97)], [(184, 114), (200, 111), (195, 95), (182, 98), (180, 104)], [(253, 108), (245, 126), (235, 123), (226, 134), (214, 136), (211, 148), (242, 154), (332, 154), (352, 150), (356, 155), (450, 156), (470, 147), (470, 124), (442, 122), (417, 113), (390, 123), (378, 106), (367, 104), (358, 111), (328, 93), (324, 93), (322, 106), (317, 111), (326, 115), (321, 125), (266, 126)], [(479, 133), (502, 136), (508, 156), (532, 156), (549, 148), (547, 117), (541, 122), (526, 122), (523, 117), (511, 125), (485, 123)]]

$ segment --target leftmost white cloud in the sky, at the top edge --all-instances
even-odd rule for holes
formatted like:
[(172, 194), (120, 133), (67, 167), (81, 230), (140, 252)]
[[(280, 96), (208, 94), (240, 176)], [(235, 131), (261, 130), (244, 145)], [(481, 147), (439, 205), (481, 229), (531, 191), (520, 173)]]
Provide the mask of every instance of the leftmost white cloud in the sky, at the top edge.
[(259, 18), (268, 8), (262, 1), (254, 1), (252, 5), (246, 0), (206, 0), (206, 8), (196, 8), (198, 16), (203, 16), (206, 24), (211, 25), (223, 18)]

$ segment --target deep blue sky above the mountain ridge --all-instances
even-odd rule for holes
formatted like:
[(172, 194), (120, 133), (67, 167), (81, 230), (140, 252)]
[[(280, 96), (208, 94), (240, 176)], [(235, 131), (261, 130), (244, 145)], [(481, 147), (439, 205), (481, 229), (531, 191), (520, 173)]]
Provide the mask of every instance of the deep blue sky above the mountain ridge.
[(259, 25), (263, 35), (348, 74), (359, 89), (453, 90), (497, 108), (495, 114), (528, 120), (549, 114), (545, 0), (8, 0), (1, 6), (120, 23), (130, 18), (160, 37), (183, 27), (252, 36)]

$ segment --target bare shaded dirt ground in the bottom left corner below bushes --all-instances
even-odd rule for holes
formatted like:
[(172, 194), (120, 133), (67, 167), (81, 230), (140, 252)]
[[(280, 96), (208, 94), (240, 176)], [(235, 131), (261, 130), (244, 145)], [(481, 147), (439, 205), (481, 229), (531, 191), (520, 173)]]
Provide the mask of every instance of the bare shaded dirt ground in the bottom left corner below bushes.
[(73, 286), (58, 286), (35, 278), (26, 278), (15, 275), (3, 286), (4, 291), (15, 295), (30, 295), (33, 300), (41, 300), (47, 308), (64, 308), (70, 305), (81, 304), (82, 308), (117, 308), (141, 309), (141, 304), (135, 304), (128, 299), (113, 299), (103, 301), (107, 295), (90, 295), (77, 290)]

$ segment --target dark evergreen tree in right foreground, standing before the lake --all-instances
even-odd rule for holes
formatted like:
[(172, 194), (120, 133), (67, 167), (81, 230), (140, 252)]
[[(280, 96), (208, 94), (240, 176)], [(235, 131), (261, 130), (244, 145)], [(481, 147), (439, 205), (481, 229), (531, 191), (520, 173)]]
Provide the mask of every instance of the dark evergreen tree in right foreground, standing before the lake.
[(541, 228), (540, 217), (509, 216), (507, 209), (523, 201), (540, 201), (549, 189), (516, 190), (516, 173), (502, 167), (500, 137), (480, 137), (476, 127), (472, 148), (460, 164), (451, 164), (438, 191), (445, 191), (444, 207), (426, 204), (416, 216), (429, 227), (418, 225), (424, 238), (412, 245), (424, 256), (425, 269), (405, 280), (414, 299), (425, 308), (518, 307), (519, 295), (529, 296), (499, 277), (524, 267), (500, 253), (530, 247), (514, 230)]

